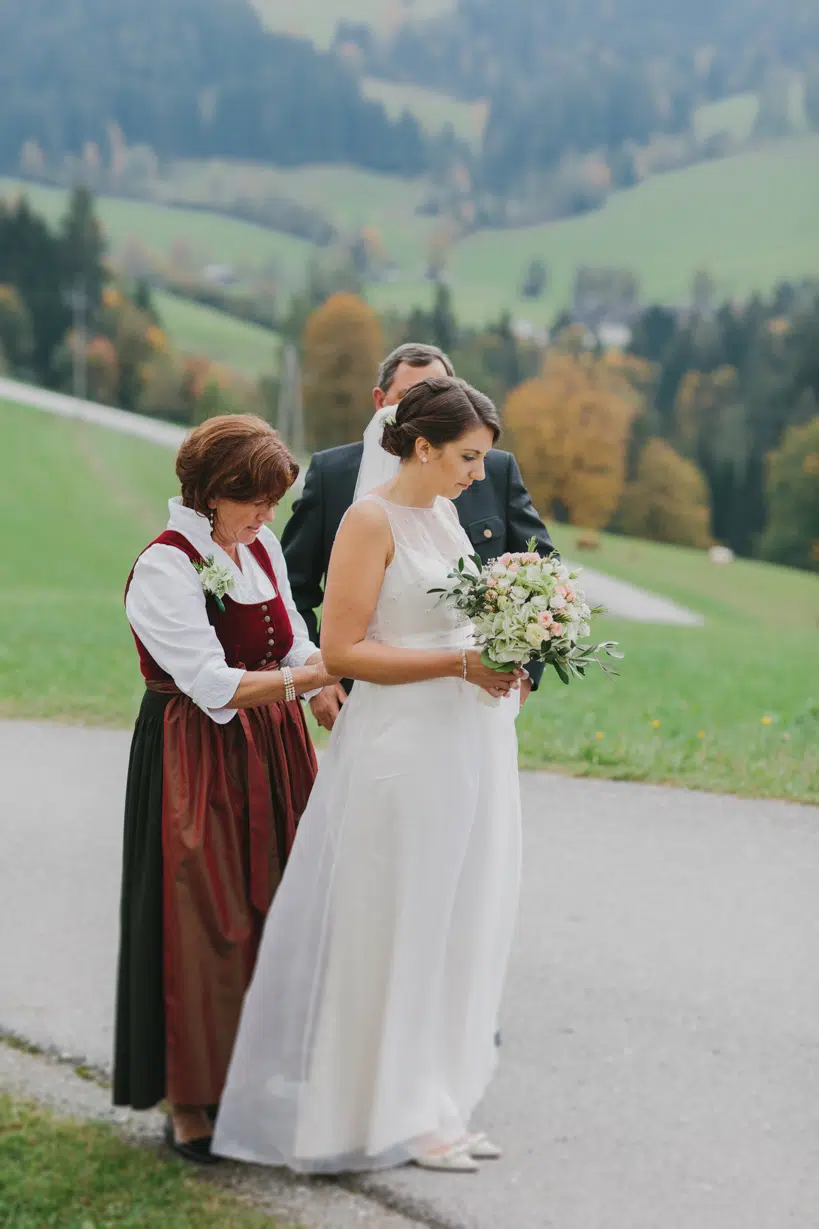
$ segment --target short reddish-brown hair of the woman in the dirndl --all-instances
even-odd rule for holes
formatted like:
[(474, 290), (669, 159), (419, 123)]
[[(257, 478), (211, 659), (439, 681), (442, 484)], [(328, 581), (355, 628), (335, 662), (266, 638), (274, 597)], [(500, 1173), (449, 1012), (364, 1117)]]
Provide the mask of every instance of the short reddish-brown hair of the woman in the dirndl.
[(212, 499), (278, 504), (299, 466), (269, 423), (256, 414), (220, 414), (191, 431), (176, 457), (186, 508), (208, 515)]

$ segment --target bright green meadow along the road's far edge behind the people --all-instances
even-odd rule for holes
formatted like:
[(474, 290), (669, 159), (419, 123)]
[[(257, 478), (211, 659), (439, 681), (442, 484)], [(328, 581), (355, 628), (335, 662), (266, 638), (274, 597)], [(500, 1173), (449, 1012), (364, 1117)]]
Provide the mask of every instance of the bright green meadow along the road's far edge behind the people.
[[(164, 527), (172, 452), (10, 406), (0, 430), (0, 713), (128, 725), (141, 687), (122, 590)], [(580, 557), (576, 540), (557, 535), (706, 624), (601, 621), (626, 651), (621, 677), (548, 676), (520, 721), (523, 762), (819, 801), (819, 576), (615, 537)]]

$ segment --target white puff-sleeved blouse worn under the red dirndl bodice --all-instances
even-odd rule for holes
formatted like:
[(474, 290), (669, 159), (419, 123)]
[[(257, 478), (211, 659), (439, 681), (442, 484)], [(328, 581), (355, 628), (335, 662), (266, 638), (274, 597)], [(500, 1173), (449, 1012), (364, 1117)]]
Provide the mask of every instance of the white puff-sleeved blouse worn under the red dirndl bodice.
[[(213, 541), (207, 516), (184, 508), (178, 497), (170, 500), (168, 511), (168, 530), (182, 533), (204, 558), (213, 554), (216, 563), (230, 569), (234, 578), (230, 596), (234, 601), (252, 605), (275, 597), (274, 586), (246, 546), (239, 547), (241, 568), (237, 568)], [(318, 649), (311, 643), (293, 601), (282, 547), (267, 526), (262, 528), (258, 541), (271, 557), (279, 595), (293, 626), (293, 648), (282, 665), (291, 669), (304, 666)], [(245, 671), (225, 661), (224, 649), (208, 622), (199, 575), (182, 551), (155, 544), (140, 556), (125, 599), (125, 613), (151, 658), (181, 692), (219, 724), (226, 724), (235, 717), (236, 710), (225, 708), (225, 704), (235, 694)]]

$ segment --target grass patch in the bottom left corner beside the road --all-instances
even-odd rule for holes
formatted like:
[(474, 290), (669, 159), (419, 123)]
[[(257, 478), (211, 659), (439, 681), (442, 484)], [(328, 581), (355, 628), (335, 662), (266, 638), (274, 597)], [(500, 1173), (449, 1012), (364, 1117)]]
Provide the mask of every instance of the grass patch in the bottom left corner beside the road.
[(0, 1096), (6, 1229), (283, 1229), (236, 1196), (103, 1123)]

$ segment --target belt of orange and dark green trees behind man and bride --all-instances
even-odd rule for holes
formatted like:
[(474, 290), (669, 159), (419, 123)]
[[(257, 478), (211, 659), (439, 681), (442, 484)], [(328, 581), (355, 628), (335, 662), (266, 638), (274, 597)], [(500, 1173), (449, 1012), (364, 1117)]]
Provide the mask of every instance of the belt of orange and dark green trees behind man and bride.
[(545, 349), (508, 317), (461, 329), (445, 286), (405, 321), (337, 293), (303, 334), (312, 447), (360, 436), (378, 356), (400, 340), (446, 349), (502, 407), (548, 520), (819, 569), (819, 285), (649, 307), (625, 353), (571, 323)]

